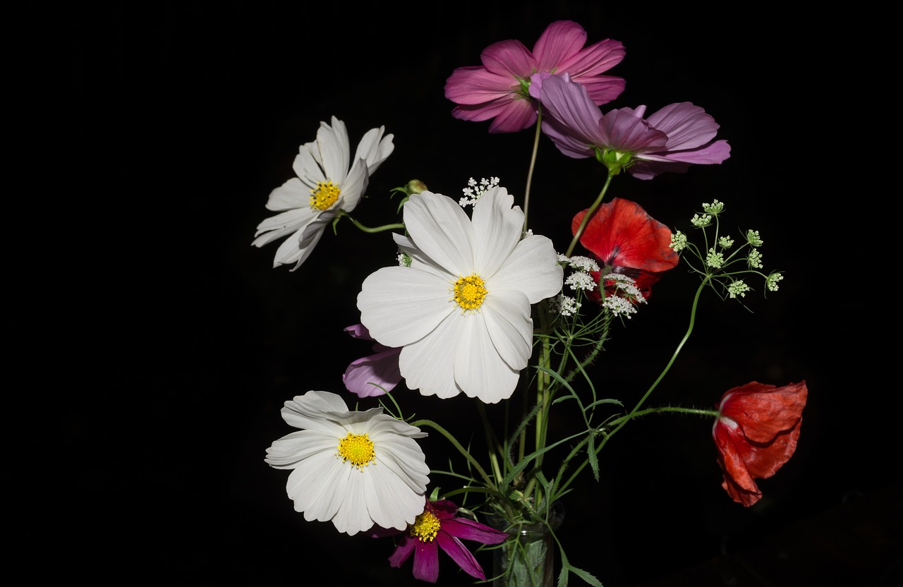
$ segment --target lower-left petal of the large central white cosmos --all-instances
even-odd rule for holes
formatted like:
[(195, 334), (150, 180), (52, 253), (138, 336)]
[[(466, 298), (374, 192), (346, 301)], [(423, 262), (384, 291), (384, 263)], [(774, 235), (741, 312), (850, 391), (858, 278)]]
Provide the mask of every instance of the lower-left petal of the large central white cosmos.
[(401, 350), (398, 368), (408, 388), (443, 399), (461, 393), (454, 381), (454, 349), (461, 340), (463, 326), (459, 312), (452, 312), (428, 336)]

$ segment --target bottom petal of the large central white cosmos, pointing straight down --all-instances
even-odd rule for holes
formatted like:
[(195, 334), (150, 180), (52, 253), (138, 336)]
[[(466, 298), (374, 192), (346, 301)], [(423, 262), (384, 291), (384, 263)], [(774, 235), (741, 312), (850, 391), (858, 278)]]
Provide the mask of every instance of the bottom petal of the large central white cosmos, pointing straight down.
[(517, 387), (519, 372), (508, 367), (494, 349), (479, 313), (462, 320), (461, 343), (454, 358), (454, 378), (469, 397), (479, 397), (487, 404), (507, 399)]

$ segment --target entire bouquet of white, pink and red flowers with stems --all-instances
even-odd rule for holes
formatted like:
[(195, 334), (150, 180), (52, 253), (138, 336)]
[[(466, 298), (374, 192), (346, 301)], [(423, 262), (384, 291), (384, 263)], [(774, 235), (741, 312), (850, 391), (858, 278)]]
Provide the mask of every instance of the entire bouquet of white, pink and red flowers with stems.
[[(394, 135), (374, 127), (352, 150), (333, 116), (302, 144), (295, 176), (266, 203), (275, 214), (257, 227), (253, 244), (279, 242), (274, 266), (291, 271), (303, 272), (324, 233), (340, 224), (377, 238), (373, 246), (396, 258), (363, 276), (359, 323), (335, 325), (372, 354), (349, 360), (344, 389), (286, 401), (284, 420), (298, 430), (276, 440), (265, 461), (291, 471), (288, 497), (305, 520), (379, 539), (388, 564), (413, 559), (424, 582), (439, 580), (442, 551), (479, 581), (565, 585), (576, 577), (601, 585), (589, 561), (567, 555), (563, 507), (578, 478), (600, 479), (601, 450), (641, 416), (711, 418), (722, 487), (744, 506), (761, 497), (756, 480), (796, 449), (805, 382), (752, 381), (703, 408), (652, 404), (694, 332), (703, 294), (742, 304), (756, 289), (776, 292), (783, 275), (765, 270), (757, 230), (726, 229), (719, 200), (688, 202), (685, 226), (672, 229), (635, 201), (610, 196), (616, 181), (723, 163), (731, 147), (717, 138), (713, 117), (689, 102), (651, 114), (646, 106), (606, 107), (624, 89), (608, 72), (625, 50), (587, 39), (578, 23), (554, 22), (532, 51), (495, 42), (482, 64), (447, 80), (455, 118), (489, 121), (490, 134), (533, 129), (519, 189), (495, 176), (470, 178), (450, 197), (431, 190), (433, 178), (405, 178), (386, 198), (396, 218), (365, 226), (354, 212), (394, 153)], [(599, 191), (574, 204), (571, 238), (562, 243), (535, 234), (529, 221), (542, 140), (604, 169)], [(550, 198), (569, 205), (544, 193), (533, 208), (543, 213)], [(686, 330), (638, 398), (611, 397), (591, 365), (678, 266), (699, 277)], [(410, 394), (433, 400), (438, 416), (409, 413)], [(442, 401), (461, 395), (472, 399), (472, 420), (443, 423)], [(451, 456), (424, 453), (418, 440), (428, 433), (447, 441)]]

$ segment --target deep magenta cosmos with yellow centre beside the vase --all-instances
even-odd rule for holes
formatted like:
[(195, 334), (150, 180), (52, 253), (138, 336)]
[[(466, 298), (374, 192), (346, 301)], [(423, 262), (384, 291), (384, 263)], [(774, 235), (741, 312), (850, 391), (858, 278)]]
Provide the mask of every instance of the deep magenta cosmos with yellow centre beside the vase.
[[(417, 516), (414, 524), (408, 526), (405, 536), (396, 551), (389, 557), (389, 563), (401, 567), (414, 554), (414, 578), (420, 581), (436, 582), (439, 579), (439, 549), (442, 548), (464, 573), (486, 581), (483, 567), (470, 554), (461, 539), (473, 540), (484, 545), (498, 545), (507, 540), (507, 533), (480, 524), (466, 517), (457, 517), (458, 506), (452, 501), (426, 500), (424, 513)], [(372, 536), (397, 535), (395, 530), (377, 530)]]

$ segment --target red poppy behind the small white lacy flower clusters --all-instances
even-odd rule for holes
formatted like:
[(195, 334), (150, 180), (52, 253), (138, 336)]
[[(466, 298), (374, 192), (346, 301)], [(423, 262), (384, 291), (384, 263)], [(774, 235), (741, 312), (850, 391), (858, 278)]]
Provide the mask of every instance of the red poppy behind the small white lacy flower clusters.
[[(577, 233), (587, 210), (577, 212), (571, 221)], [(580, 238), (600, 265), (608, 267), (604, 273), (618, 273), (633, 279), (643, 297), (648, 298), (652, 284), (660, 274), (673, 269), (680, 257), (671, 248), (671, 229), (652, 218), (638, 203), (614, 198), (602, 204), (592, 216)], [(593, 272), (598, 282), (601, 272)], [(611, 285), (611, 284), (606, 284)], [(606, 293), (612, 293), (606, 288)], [(600, 294), (591, 297), (600, 302)]]

